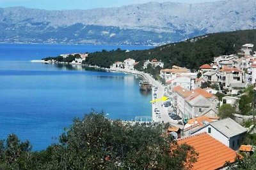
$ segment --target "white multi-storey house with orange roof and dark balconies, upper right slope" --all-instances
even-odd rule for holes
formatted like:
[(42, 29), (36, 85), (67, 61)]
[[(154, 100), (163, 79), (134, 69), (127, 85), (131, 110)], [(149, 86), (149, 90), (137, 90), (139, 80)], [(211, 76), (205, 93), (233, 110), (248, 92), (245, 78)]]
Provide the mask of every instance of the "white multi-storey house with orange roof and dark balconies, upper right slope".
[(220, 69), (219, 81), (224, 89), (228, 89), (231, 83), (243, 83), (243, 71), (236, 67), (223, 67)]

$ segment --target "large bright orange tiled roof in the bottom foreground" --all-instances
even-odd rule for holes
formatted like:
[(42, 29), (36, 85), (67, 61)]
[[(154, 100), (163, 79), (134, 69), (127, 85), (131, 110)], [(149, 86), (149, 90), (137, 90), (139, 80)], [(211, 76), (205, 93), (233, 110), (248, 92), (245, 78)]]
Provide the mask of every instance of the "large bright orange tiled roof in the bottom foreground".
[(212, 138), (206, 132), (178, 140), (178, 144), (193, 146), (199, 154), (192, 169), (211, 170), (223, 167), (225, 162), (235, 162), (236, 152)]

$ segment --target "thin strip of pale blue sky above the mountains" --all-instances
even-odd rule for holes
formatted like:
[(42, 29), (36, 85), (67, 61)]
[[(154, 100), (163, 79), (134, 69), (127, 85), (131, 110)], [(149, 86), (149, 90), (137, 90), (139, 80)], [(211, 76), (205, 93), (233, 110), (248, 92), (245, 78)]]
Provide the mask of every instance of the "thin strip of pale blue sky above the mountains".
[[(102, 7), (116, 7), (128, 4), (139, 4), (148, 2), (163, 3), (168, 0), (0, 0), (0, 7), (26, 6), (28, 8), (39, 8), (45, 10), (72, 10), (72, 9), (92, 9)], [(202, 3), (223, 0), (169, 0), (179, 3)]]

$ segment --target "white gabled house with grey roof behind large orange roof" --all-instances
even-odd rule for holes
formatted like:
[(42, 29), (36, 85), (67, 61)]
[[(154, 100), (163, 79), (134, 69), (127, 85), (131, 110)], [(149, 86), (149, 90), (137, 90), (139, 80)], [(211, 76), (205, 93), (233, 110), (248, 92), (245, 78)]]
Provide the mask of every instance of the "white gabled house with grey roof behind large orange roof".
[(225, 118), (211, 122), (191, 134), (200, 134), (202, 132), (207, 132), (212, 138), (217, 139), (229, 148), (238, 150), (245, 138), (247, 130), (231, 118)]

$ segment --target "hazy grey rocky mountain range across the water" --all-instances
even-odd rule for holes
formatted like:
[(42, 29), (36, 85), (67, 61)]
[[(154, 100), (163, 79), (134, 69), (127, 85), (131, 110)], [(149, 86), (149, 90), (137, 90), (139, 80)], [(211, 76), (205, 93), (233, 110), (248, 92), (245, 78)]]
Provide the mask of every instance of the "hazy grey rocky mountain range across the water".
[(48, 11), (0, 8), (2, 43), (161, 45), (212, 32), (255, 29), (256, 0), (145, 3)]

